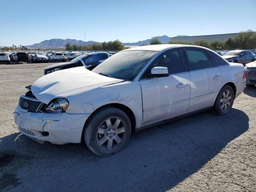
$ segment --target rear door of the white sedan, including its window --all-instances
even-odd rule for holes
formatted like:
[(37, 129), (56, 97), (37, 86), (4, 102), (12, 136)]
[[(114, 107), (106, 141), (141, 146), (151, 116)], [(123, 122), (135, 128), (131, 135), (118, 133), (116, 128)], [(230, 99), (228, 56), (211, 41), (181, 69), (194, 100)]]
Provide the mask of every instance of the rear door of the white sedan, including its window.
[(223, 77), (206, 50), (194, 47), (184, 49), (191, 78), (188, 112), (193, 112), (211, 106)]

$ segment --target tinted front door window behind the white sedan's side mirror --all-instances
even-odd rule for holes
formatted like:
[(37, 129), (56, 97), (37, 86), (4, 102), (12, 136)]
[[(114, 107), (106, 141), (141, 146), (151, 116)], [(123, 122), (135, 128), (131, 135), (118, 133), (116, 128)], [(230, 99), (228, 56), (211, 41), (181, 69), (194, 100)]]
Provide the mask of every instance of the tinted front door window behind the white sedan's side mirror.
[(185, 72), (184, 61), (180, 49), (166, 51), (148, 67), (141, 79), (150, 78), (151, 69), (154, 67), (167, 67), (170, 74)]

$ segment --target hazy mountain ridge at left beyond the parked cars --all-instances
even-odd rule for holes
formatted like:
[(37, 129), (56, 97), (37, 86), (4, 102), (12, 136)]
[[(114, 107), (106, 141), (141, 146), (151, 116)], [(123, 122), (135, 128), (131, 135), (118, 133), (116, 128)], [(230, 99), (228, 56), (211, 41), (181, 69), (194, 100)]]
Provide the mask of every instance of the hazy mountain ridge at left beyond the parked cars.
[(87, 41), (84, 42), (82, 40), (76, 40), (76, 39), (50, 39), (50, 40), (44, 40), (40, 43), (36, 43), (33, 45), (25, 46), (26, 48), (64, 48), (66, 43), (70, 43), (71, 45), (77, 44), (77, 45), (89, 45), (94, 43), (100, 43), (95, 41)]

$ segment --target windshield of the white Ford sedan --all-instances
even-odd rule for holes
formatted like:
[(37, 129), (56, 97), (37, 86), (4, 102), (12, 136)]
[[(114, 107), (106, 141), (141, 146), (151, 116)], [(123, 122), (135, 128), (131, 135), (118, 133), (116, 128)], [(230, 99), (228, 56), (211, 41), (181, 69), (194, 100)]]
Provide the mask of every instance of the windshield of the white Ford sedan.
[(131, 81), (156, 53), (155, 51), (118, 52), (99, 64), (92, 72)]

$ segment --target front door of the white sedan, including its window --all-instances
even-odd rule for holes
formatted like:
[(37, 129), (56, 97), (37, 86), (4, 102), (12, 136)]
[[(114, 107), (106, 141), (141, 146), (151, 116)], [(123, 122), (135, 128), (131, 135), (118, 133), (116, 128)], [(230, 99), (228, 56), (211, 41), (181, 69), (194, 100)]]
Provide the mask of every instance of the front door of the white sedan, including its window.
[[(143, 103), (143, 126), (186, 114), (190, 100), (190, 75), (185, 71), (182, 50), (168, 50), (148, 67), (140, 86)], [(169, 70), (168, 77), (151, 78), (153, 67)]]

